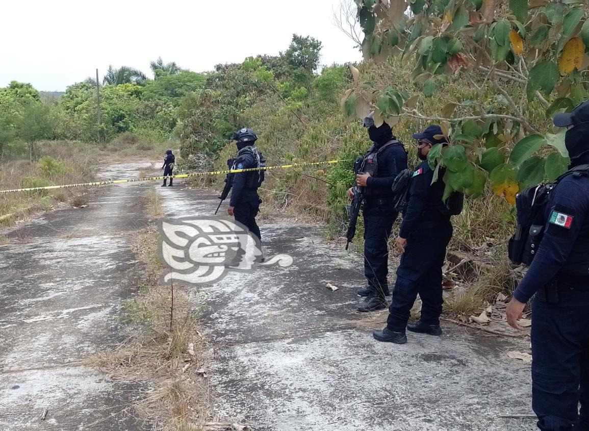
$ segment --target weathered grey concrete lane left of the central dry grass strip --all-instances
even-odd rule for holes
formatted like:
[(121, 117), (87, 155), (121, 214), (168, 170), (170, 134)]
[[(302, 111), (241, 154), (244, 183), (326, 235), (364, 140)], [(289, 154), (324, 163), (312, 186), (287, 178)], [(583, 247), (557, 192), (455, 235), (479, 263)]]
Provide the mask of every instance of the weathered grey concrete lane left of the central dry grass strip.
[[(150, 163), (102, 174), (126, 178)], [(90, 207), (47, 213), (14, 228), (0, 247), (0, 430), (135, 430), (119, 414), (142, 397), (80, 361), (124, 338), (118, 317), (137, 286), (132, 231), (150, 184), (100, 190)], [(48, 409), (47, 417), (39, 420)]]

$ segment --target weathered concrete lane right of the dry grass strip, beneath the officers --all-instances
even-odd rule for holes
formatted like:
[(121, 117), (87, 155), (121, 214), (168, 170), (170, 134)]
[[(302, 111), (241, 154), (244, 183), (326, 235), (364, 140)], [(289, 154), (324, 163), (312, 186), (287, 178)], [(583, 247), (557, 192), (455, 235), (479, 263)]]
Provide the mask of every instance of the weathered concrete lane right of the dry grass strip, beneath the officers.
[[(219, 202), (180, 187), (161, 194), (170, 217), (211, 216)], [(261, 227), (266, 254), (288, 253), (293, 266), (230, 273), (196, 298), (209, 306), (203, 323), (221, 417), (256, 431), (535, 429), (532, 420), (498, 418), (530, 413), (530, 367), (506, 354), (527, 351), (528, 341), (446, 324), (442, 337), (409, 333), (403, 346), (378, 343), (371, 331), (382, 324), (352, 311), (362, 283), (358, 256), (293, 221)]]

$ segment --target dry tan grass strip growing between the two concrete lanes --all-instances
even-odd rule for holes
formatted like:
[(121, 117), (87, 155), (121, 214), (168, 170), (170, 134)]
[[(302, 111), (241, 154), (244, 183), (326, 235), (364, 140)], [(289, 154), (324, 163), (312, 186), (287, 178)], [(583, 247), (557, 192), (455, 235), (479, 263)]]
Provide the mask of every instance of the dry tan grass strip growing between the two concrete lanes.
[[(156, 192), (157, 194), (157, 192)], [(163, 424), (167, 431), (206, 429), (209, 384), (204, 366), (207, 340), (198, 310), (184, 286), (164, 286), (164, 267), (157, 254), (158, 232), (148, 227), (134, 234), (133, 249), (145, 270), (140, 294), (128, 301), (122, 318), (134, 335), (114, 350), (87, 359), (87, 364), (118, 379), (147, 382), (154, 388), (129, 406), (134, 415)]]

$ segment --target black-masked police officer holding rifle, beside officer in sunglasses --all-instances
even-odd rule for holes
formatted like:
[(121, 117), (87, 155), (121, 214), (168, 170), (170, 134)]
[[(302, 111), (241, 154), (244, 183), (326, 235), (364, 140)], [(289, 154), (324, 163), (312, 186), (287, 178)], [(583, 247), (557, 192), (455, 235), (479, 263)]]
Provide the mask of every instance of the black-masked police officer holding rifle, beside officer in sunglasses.
[[(407, 168), (407, 152), (394, 136), (391, 126), (383, 122), (376, 127), (373, 113), (363, 121), (373, 142), (356, 172), (356, 184), (364, 187), (364, 275), (368, 287), (357, 291), (366, 297), (356, 307), (358, 311), (386, 308), (389, 293), (388, 239), (398, 216), (393, 205), (391, 185), (397, 174)], [(348, 197), (353, 198), (353, 188)]]

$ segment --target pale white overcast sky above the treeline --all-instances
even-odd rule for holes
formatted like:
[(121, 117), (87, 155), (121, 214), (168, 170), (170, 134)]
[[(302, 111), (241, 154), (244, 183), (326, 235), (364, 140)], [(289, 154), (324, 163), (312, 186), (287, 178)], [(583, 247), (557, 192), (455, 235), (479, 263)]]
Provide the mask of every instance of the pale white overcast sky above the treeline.
[(158, 56), (193, 71), (284, 51), (293, 33), (323, 42), (322, 64), (358, 61), (332, 24), (339, 0), (20, 0), (2, 2), (0, 87), (64, 91), (109, 64), (150, 75)]

